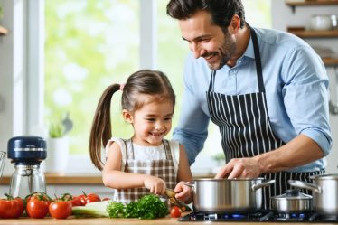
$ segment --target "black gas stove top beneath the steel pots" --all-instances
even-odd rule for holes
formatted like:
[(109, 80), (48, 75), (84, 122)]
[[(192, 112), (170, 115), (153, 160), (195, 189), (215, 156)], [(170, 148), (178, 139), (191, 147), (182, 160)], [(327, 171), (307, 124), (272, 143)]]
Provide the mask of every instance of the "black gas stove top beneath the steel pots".
[(257, 211), (252, 213), (205, 213), (192, 211), (179, 221), (249, 221), (249, 222), (338, 222), (338, 216), (324, 216), (313, 211), (305, 213), (277, 213)]

